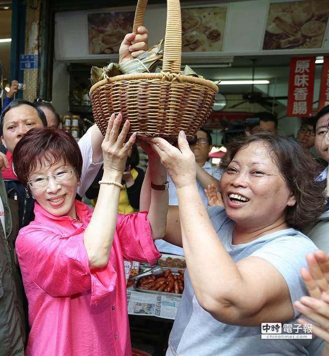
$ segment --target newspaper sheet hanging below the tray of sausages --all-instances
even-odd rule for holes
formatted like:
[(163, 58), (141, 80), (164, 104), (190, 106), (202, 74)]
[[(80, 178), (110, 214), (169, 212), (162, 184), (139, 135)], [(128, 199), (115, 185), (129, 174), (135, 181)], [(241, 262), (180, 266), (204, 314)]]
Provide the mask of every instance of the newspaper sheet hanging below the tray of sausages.
[(127, 290), (128, 314), (175, 319), (181, 297)]

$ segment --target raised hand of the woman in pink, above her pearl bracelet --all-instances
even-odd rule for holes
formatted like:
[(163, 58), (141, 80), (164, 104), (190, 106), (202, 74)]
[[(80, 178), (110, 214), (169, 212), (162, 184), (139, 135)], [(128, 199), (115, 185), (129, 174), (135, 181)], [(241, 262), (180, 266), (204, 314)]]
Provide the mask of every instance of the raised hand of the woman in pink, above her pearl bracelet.
[(124, 172), (128, 151), (136, 141), (136, 133), (133, 133), (130, 139), (125, 143), (130, 124), (129, 121), (126, 120), (119, 133), (121, 122), (122, 115), (120, 113), (116, 117), (112, 114), (108, 121), (107, 130), (102, 143), (104, 175), (110, 172)]

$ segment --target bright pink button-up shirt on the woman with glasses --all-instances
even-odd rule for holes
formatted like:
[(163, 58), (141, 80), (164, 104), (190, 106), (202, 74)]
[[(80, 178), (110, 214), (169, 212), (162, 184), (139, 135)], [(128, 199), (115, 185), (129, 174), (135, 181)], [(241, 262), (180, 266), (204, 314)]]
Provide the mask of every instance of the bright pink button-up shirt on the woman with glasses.
[(145, 213), (118, 214), (108, 265), (91, 270), (83, 234), (92, 210), (76, 201), (81, 222), (35, 204), (16, 251), (29, 301), (33, 356), (131, 355), (123, 259), (160, 257)]

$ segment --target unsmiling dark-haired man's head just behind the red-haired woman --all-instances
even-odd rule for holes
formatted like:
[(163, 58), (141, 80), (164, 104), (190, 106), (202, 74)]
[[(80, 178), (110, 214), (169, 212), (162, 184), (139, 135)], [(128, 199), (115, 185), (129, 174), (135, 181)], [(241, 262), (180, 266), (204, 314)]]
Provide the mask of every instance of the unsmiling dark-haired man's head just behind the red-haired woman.
[(15, 106), (4, 117), (3, 144), (13, 153), (17, 143), (29, 130), (43, 126), (34, 107), (25, 104)]

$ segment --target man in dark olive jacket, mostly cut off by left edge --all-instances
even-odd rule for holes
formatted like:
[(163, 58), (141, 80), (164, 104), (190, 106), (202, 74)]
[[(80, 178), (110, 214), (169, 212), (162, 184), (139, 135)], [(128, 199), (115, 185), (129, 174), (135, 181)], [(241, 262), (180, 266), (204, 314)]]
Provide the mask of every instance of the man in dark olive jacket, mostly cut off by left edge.
[[(0, 86), (0, 98), (3, 93), (4, 89)], [(23, 286), (14, 253), (14, 241), (18, 233), (18, 218), (12, 209), (15, 204), (15, 198), (7, 197), (5, 183), (0, 174), (0, 354), (23, 356), (26, 324)]]

